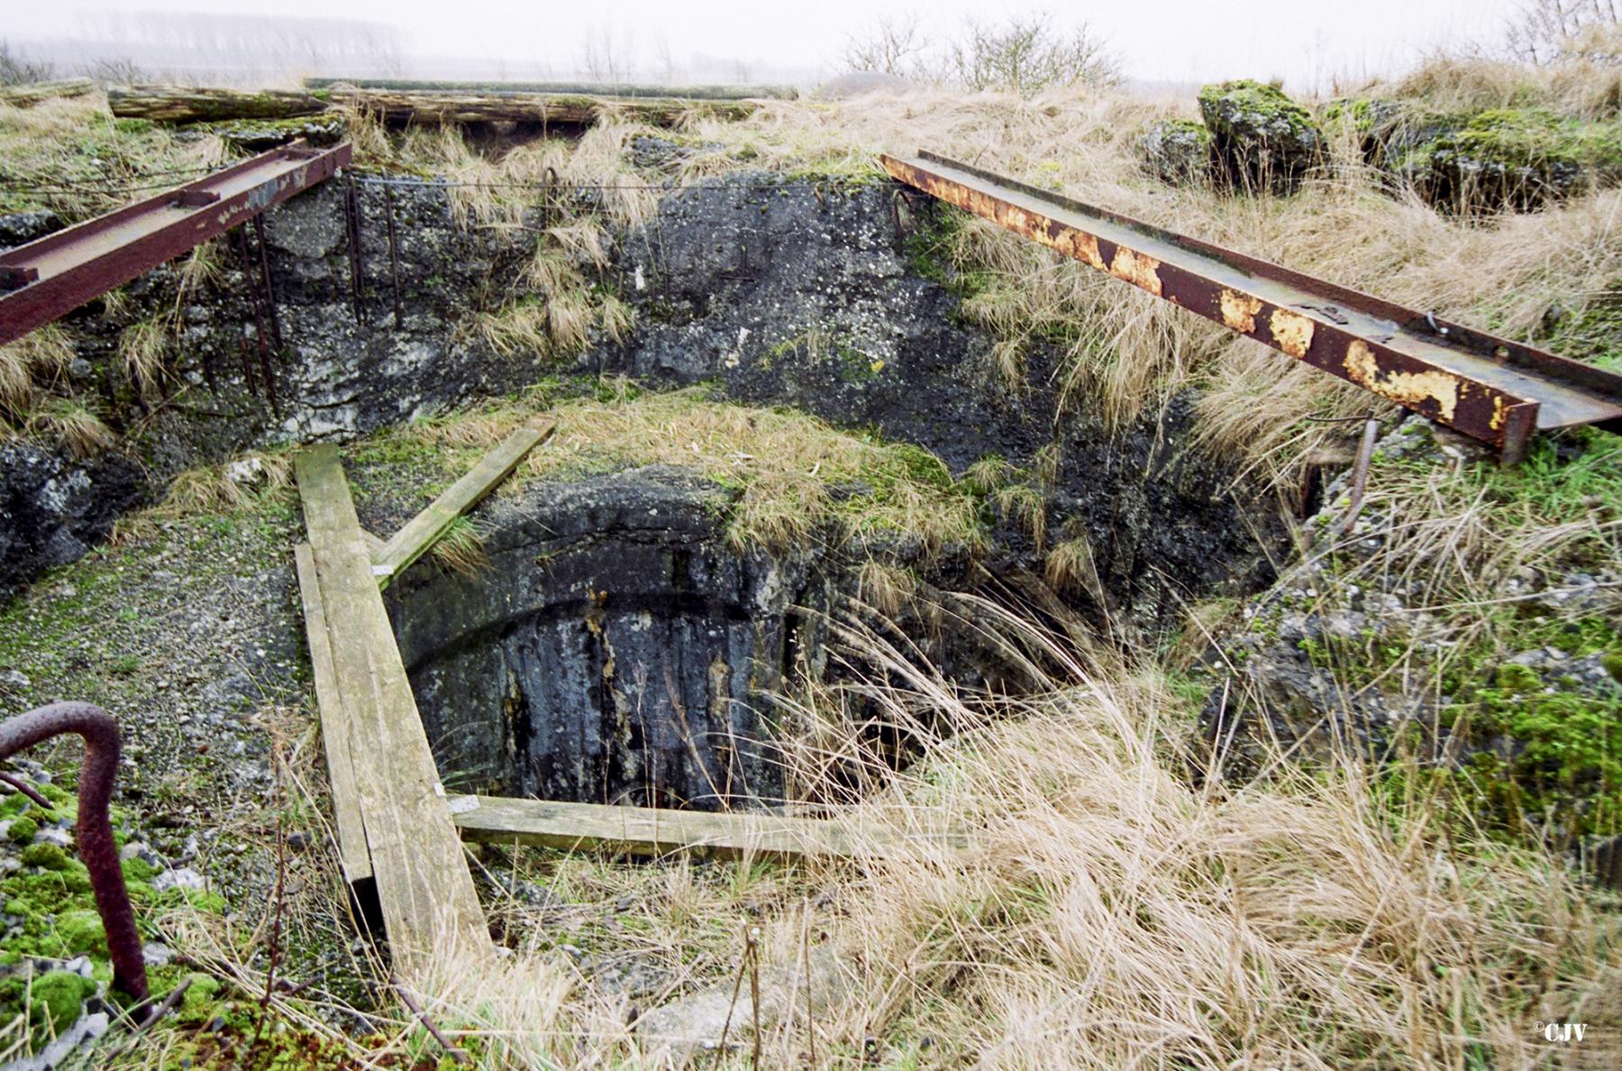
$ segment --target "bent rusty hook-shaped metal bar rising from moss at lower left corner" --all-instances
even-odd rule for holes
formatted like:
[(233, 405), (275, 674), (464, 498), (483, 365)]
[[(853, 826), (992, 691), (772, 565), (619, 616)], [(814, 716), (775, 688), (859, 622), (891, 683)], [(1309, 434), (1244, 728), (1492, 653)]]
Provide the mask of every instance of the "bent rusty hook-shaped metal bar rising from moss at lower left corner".
[(0, 759), (24, 748), (76, 732), (84, 737), (84, 764), (79, 768), (79, 818), (76, 839), (79, 858), (91, 871), (91, 892), (107, 931), (112, 959), (112, 985), (136, 1001), (148, 998), (146, 961), (141, 935), (135, 928), (135, 909), (123, 884), (118, 847), (112, 839), (112, 785), (118, 776), (118, 722), (107, 711), (89, 703), (52, 703), (28, 714), (0, 722)]

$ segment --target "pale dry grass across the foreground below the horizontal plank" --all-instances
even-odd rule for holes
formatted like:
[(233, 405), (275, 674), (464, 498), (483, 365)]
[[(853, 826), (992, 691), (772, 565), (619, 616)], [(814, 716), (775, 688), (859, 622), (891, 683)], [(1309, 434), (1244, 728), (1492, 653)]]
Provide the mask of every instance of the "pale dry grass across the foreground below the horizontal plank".
[[(1457, 839), (1422, 800), (1384, 805), (1354, 766), (1194, 785), (1153, 675), (1088, 672), (988, 605), (965, 623), (1025, 644), (1041, 688), (962, 695), (843, 634), (868, 717), (934, 745), (847, 816), (970, 829), (967, 852), (702, 871), (490, 855), (548, 905), (496, 897), (516, 951), (423, 980), (440, 1026), (485, 1068), (665, 1066), (626, 1029), (629, 998), (558, 944), (589, 948), (589, 970), (647, 966), (659, 1004), (725, 993), (753, 928), (787, 987), (762, 996), (769, 1066), (1531, 1066), (1552, 1055), (1538, 1021), (1590, 1024), (1585, 1066), (1622, 1056), (1616, 917), (1546, 857)], [(795, 988), (808, 959), (834, 964), (813, 993)], [(754, 1029), (740, 1016), (715, 1065), (749, 1066)]]

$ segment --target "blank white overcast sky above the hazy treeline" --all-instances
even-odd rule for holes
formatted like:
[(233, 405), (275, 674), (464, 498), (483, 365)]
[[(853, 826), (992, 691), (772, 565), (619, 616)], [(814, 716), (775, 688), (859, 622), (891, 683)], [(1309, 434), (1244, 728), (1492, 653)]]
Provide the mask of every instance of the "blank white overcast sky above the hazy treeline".
[[(929, 11), (946, 28), (963, 18), (996, 19), (1048, 10), (1087, 21), (1124, 60), (1131, 78), (1207, 81), (1285, 78), (1298, 88), (1328, 76), (1356, 78), (1413, 65), (1422, 54), (1465, 42), (1495, 44), (1520, 0), (276, 0), (274, 13), (357, 18), (399, 28), (407, 55), (467, 57), (513, 65), (522, 76), (579, 68), (589, 36), (608, 32), (647, 76), (659, 55), (678, 63), (707, 55), (740, 60), (754, 78), (785, 70), (834, 70), (847, 36), (884, 11)], [(263, 16), (263, 0), (3, 0), (0, 36), (13, 41), (97, 32), (105, 11), (201, 10)]]

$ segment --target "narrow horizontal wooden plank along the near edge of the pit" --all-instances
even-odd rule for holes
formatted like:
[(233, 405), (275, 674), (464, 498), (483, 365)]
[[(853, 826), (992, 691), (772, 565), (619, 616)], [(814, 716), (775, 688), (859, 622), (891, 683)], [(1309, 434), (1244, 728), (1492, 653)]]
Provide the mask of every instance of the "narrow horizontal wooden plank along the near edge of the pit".
[(534, 844), (574, 850), (602, 849), (662, 855), (702, 850), (714, 855), (842, 855), (882, 857), (905, 844), (928, 842), (962, 850), (960, 832), (912, 834), (887, 828), (858, 828), (824, 818), (673, 811), (650, 806), (563, 803), (491, 795), (451, 800), (451, 819), (469, 841)]

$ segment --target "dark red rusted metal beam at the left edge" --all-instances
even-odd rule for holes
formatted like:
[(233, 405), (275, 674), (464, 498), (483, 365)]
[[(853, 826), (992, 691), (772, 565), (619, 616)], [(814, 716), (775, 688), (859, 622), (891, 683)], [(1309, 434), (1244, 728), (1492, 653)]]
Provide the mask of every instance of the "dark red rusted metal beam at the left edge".
[(313, 153), (294, 143), (183, 187), (0, 253), (0, 342), (123, 286), (225, 234), (349, 164), (349, 143)]

